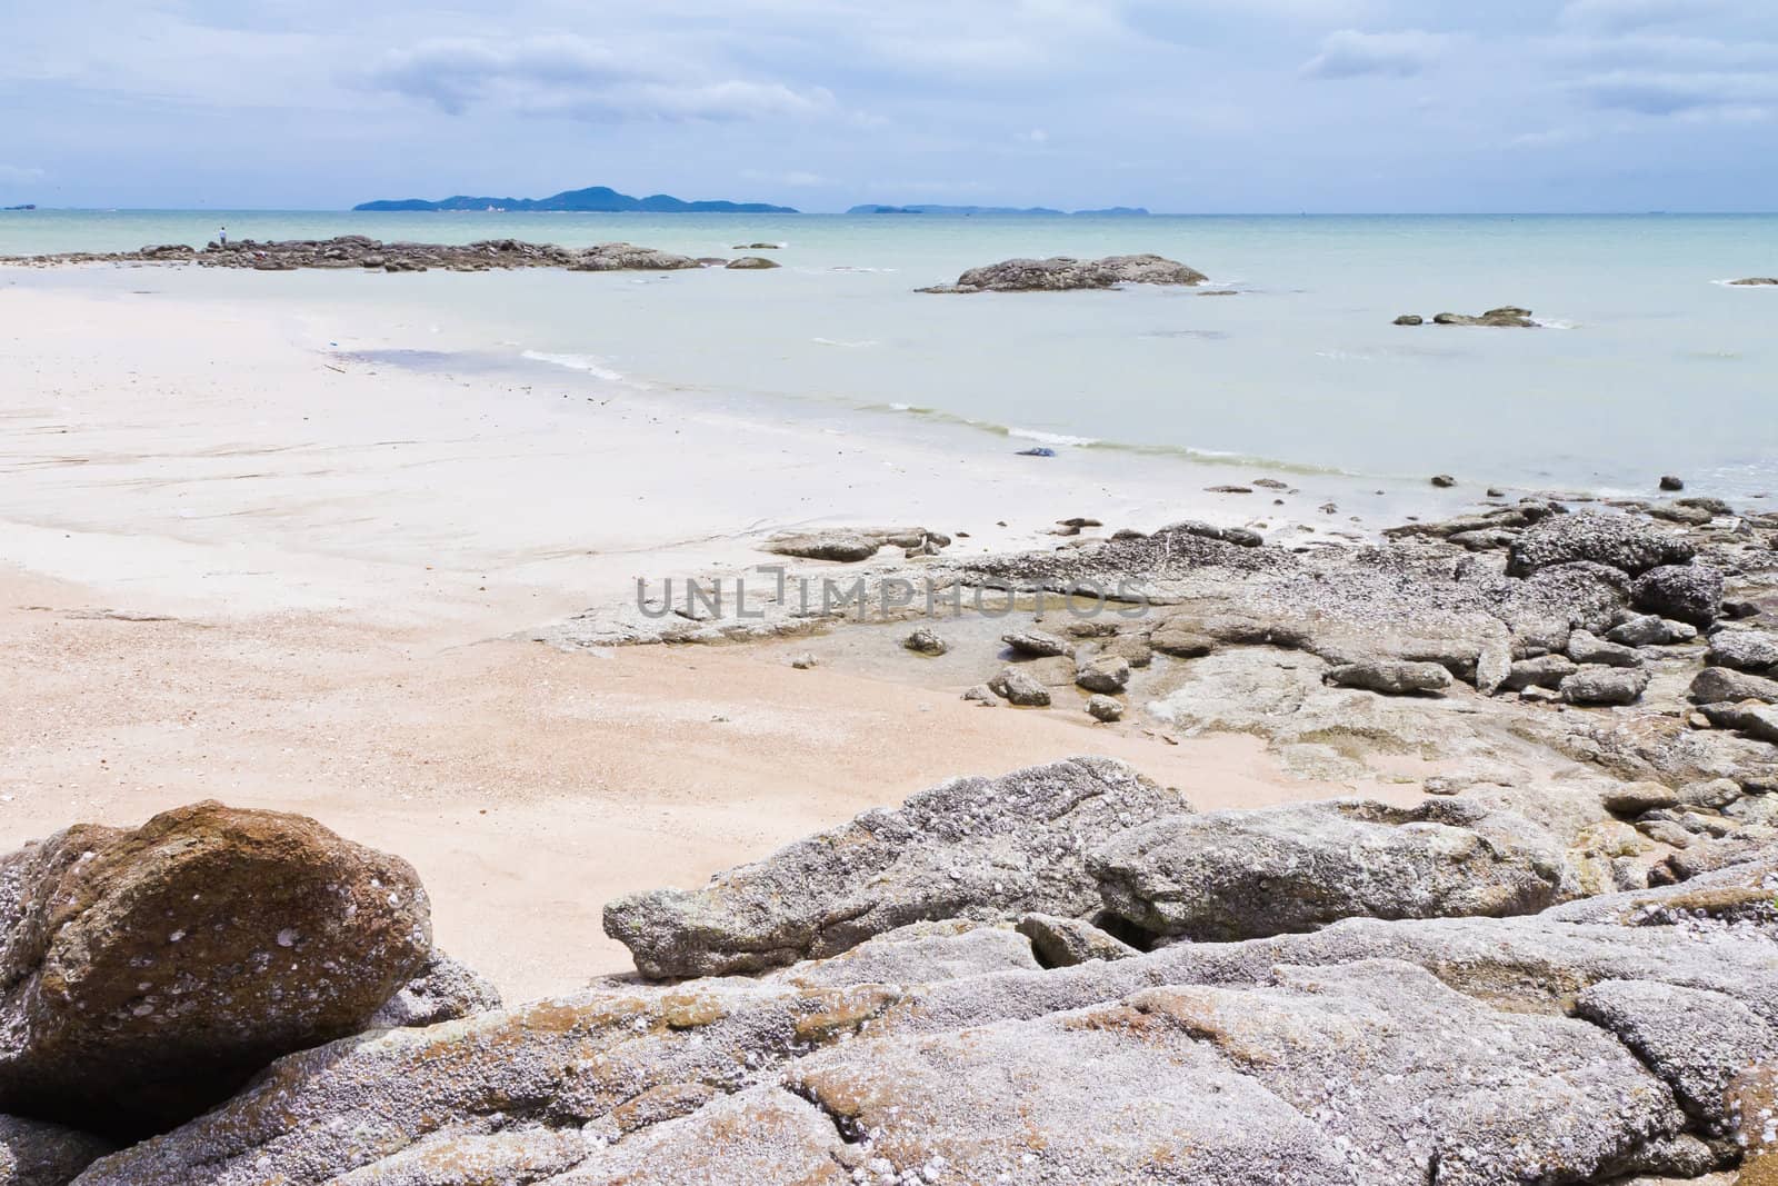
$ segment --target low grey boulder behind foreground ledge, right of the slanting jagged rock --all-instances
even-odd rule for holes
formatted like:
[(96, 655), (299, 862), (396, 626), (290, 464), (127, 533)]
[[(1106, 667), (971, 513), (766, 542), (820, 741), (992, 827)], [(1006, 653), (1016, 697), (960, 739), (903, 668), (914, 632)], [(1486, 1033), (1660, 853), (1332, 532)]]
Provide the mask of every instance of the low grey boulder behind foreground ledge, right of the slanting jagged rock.
[(1542, 829), (1469, 800), (1170, 816), (1093, 848), (1106, 907), (1150, 935), (1229, 941), (1342, 918), (1531, 914), (1563, 893)]

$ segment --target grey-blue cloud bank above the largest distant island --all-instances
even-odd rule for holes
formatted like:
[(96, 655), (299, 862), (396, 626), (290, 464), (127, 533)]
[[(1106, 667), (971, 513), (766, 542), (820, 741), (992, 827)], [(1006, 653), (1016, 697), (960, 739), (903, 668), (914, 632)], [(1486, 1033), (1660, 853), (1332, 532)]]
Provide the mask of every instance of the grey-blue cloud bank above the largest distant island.
[(395, 50), (368, 84), (461, 116), (500, 108), (585, 121), (752, 121), (805, 117), (830, 92), (711, 76), (697, 62), (619, 50), (590, 37), (441, 37)]

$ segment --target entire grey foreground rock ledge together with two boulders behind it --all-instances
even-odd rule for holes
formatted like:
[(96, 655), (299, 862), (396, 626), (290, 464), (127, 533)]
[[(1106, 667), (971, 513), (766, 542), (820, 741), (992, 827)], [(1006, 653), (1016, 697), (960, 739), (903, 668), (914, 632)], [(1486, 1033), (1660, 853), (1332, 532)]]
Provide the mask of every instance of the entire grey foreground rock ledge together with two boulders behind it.
[(1559, 862), (1481, 804), (960, 779), (645, 909), (727, 973), (754, 925), (763, 974), (293, 1053), (75, 1182), (1771, 1182), (1778, 852), (1591, 898)]

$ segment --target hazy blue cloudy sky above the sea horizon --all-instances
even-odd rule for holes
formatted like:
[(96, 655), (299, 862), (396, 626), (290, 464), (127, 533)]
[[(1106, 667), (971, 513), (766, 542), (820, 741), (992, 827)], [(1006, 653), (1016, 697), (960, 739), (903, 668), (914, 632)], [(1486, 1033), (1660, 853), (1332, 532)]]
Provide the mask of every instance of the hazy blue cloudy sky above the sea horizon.
[(4, 0), (0, 204), (1778, 210), (1778, 0)]

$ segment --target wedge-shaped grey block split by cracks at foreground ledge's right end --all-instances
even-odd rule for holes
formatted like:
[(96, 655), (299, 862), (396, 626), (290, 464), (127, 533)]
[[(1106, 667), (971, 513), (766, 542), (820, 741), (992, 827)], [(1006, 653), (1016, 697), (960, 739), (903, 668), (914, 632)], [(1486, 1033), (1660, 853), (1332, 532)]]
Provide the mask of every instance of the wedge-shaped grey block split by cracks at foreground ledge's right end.
[(1575, 1012), (1652, 1067), (1705, 1136), (1730, 1136), (1739, 1127), (1734, 1079), (1750, 1067), (1778, 1063), (1778, 1026), (1721, 992), (1607, 980), (1586, 989)]

